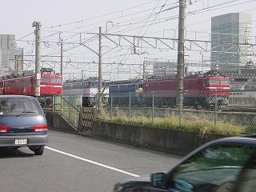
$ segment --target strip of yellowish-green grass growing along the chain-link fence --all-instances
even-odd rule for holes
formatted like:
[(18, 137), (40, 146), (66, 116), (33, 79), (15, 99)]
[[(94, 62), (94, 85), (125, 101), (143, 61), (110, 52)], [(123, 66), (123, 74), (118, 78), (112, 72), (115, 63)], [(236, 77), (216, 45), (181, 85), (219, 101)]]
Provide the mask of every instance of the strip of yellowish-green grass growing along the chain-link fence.
[(112, 119), (109, 116), (104, 115), (101, 118), (102, 121), (116, 122), (120, 124), (128, 124), (134, 126), (146, 126), (161, 129), (170, 130), (183, 130), (190, 132), (197, 132), (202, 137), (207, 134), (222, 134), (222, 135), (240, 135), (249, 134), (248, 127), (237, 125), (231, 122), (217, 122), (214, 126), (214, 121), (210, 121), (207, 118), (190, 118), (182, 119), (182, 128), (179, 127), (178, 117), (170, 116), (168, 118), (154, 118), (152, 124), (152, 119), (147, 117), (131, 117), (130, 121), (126, 115), (118, 115)]

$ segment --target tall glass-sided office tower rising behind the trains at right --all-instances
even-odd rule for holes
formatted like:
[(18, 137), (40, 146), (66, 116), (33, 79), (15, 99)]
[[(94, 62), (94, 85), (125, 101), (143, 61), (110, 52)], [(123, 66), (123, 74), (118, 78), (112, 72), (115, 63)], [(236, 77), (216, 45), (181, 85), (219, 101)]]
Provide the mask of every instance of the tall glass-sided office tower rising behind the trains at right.
[(251, 14), (230, 13), (211, 18), (211, 63), (220, 71), (236, 71), (251, 59), (250, 46), (218, 42), (250, 43)]

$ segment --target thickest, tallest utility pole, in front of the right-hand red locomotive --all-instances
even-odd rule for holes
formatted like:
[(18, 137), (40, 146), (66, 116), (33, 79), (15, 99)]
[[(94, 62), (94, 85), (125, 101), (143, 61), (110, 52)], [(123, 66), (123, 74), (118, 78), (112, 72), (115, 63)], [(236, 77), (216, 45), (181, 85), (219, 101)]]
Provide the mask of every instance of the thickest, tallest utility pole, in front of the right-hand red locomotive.
[(184, 42), (185, 42), (185, 18), (186, 18), (186, 0), (179, 0), (178, 17), (178, 65), (177, 65), (177, 98), (176, 105), (179, 108), (179, 126), (182, 126), (182, 108), (183, 108), (183, 78), (184, 78)]

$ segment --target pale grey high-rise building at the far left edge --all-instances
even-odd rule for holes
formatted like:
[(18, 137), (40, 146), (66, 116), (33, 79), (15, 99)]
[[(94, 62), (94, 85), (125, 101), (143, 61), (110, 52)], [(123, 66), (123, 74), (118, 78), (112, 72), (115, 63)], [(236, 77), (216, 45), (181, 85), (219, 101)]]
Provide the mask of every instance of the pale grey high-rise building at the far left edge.
[(14, 34), (0, 34), (0, 68), (15, 70), (16, 41)]

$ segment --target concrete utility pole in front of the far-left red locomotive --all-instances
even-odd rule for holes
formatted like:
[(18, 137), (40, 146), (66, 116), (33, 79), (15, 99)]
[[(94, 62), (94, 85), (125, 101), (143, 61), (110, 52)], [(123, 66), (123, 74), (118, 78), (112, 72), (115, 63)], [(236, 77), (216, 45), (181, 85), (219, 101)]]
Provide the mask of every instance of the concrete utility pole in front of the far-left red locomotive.
[(40, 38), (41, 38), (41, 22), (33, 22), (32, 26), (35, 27), (35, 91), (34, 95), (40, 97), (40, 82), (41, 82), (41, 53), (40, 53)]

